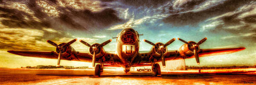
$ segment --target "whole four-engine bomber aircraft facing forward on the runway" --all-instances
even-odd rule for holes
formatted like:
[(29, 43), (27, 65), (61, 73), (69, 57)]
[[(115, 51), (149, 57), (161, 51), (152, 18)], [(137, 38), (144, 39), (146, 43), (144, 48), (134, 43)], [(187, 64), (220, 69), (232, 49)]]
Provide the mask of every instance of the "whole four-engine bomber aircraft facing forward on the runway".
[[(48, 59), (73, 60), (81, 62), (92, 62), (92, 67), (95, 69), (95, 75), (100, 76), (103, 72), (103, 67), (119, 66), (123, 67), (125, 73), (130, 71), (131, 67), (136, 66), (152, 66), (152, 71), (156, 76), (161, 75), (160, 65), (166, 66), (166, 60), (177, 60), (186, 58), (195, 58), (197, 64), (200, 64), (199, 57), (206, 57), (220, 54), (230, 54), (245, 48), (216, 48), (216, 49), (200, 49), (201, 45), (207, 38), (199, 42), (186, 42), (180, 38), (178, 40), (184, 42), (178, 50), (167, 50), (167, 46), (175, 41), (175, 38), (166, 42), (153, 43), (144, 40), (150, 45), (153, 45), (150, 51), (139, 51), (140, 39), (137, 31), (132, 28), (123, 29), (116, 37), (116, 51), (105, 51), (104, 46), (112, 40), (107, 40), (101, 44), (94, 43), (90, 45), (83, 40), (81, 43), (89, 47), (88, 51), (76, 51), (70, 44), (76, 42), (74, 39), (67, 43), (57, 45), (55, 42), (47, 40), (51, 45), (56, 47), (56, 51), (8, 51), (12, 54), (17, 54), (27, 57), (39, 57)], [(99, 63), (95, 66), (95, 63)]]

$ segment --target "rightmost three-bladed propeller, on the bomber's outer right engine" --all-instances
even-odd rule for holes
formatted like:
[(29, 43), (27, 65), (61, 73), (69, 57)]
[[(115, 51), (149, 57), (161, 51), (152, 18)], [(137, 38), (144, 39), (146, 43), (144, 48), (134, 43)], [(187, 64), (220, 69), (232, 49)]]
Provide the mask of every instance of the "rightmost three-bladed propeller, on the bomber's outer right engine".
[(198, 56), (198, 46), (201, 45), (205, 40), (207, 40), (207, 38), (203, 38), (202, 40), (200, 40), (198, 43), (195, 43), (195, 44), (192, 44), (192, 43), (189, 43), (189, 42), (186, 42), (185, 40), (182, 40), (180, 38), (178, 38), (178, 40), (180, 40), (181, 42), (184, 42), (190, 46), (192, 46), (191, 48), (193, 49), (193, 52), (194, 52), (194, 55), (195, 55), (195, 60), (197, 62), (197, 64), (199, 65), (200, 64), (200, 61), (199, 61), (199, 56)]

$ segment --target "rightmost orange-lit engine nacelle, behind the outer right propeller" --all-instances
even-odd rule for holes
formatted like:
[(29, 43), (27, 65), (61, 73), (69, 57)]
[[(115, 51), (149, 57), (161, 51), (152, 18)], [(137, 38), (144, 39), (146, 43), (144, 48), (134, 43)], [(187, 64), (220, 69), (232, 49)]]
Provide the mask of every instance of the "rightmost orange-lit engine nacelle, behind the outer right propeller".
[[(190, 44), (194, 45), (197, 44), (194, 41), (189, 41)], [(188, 44), (183, 44), (180, 48), (179, 48), (179, 53), (183, 58), (187, 58), (187, 57), (191, 57), (192, 55), (194, 55), (194, 49), (192, 45), (188, 45)], [(199, 52), (199, 46), (198, 48), (196, 48), (197, 51)]]

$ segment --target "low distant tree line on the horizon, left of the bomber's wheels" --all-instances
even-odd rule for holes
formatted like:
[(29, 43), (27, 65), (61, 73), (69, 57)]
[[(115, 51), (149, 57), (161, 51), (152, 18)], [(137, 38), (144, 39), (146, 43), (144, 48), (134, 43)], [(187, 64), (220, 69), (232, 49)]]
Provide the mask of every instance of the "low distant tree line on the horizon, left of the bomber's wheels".
[[(21, 67), (23, 68), (23, 67)], [(37, 65), (37, 66), (26, 66), (26, 68), (34, 68), (34, 69), (56, 69), (56, 68), (65, 68), (65, 69), (75, 69), (75, 68), (89, 68), (88, 66), (83, 67), (74, 67), (74, 66), (54, 66), (54, 65)]]

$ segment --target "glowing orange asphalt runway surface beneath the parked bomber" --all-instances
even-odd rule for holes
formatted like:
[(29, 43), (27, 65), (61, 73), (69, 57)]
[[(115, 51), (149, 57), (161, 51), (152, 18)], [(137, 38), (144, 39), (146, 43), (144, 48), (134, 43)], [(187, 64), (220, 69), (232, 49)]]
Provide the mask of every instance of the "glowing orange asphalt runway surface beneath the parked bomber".
[(256, 85), (256, 74), (199, 74), (104, 69), (94, 77), (93, 69), (0, 69), (0, 85)]

